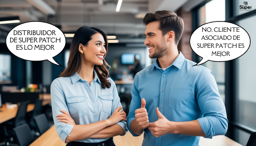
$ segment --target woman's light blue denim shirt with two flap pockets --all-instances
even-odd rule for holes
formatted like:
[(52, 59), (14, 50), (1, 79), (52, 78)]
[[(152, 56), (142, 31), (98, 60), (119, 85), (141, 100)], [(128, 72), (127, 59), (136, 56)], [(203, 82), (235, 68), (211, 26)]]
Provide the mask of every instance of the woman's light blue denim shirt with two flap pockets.
[[(111, 78), (110, 88), (101, 88), (101, 82), (94, 70), (94, 80), (91, 85), (80, 78), (78, 73), (69, 77), (56, 78), (51, 85), (52, 112), (56, 131), (63, 142), (69, 136), (73, 125), (63, 124), (56, 115), (68, 111), (76, 124), (90, 124), (108, 119), (117, 107), (121, 107), (116, 84)], [(116, 123), (127, 132), (126, 122)], [(102, 142), (106, 139), (83, 139), (78, 142)]]

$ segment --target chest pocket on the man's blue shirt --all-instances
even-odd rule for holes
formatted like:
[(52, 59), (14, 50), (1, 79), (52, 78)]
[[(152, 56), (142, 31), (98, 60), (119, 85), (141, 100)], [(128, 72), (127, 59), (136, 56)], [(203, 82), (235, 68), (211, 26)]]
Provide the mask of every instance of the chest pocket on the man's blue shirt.
[(169, 107), (181, 111), (188, 107), (190, 100), (190, 88), (170, 88)]

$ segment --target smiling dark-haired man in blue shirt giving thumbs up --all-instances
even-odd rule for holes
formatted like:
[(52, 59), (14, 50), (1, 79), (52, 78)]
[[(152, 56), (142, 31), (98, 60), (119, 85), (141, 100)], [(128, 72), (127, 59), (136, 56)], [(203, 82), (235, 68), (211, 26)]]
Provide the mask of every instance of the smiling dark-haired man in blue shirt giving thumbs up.
[(144, 131), (143, 146), (198, 146), (200, 137), (224, 135), (226, 110), (213, 74), (178, 52), (182, 18), (157, 11), (143, 23), (149, 57), (157, 59), (134, 78), (128, 130)]

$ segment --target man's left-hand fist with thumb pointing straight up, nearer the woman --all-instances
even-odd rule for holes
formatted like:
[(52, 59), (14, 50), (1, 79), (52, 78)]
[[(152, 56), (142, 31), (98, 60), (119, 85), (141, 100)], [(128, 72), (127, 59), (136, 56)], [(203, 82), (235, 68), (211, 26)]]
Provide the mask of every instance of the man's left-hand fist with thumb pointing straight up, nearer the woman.
[(146, 100), (143, 98), (141, 100), (141, 107), (135, 110), (136, 122), (141, 130), (148, 128), (148, 114), (145, 106)]

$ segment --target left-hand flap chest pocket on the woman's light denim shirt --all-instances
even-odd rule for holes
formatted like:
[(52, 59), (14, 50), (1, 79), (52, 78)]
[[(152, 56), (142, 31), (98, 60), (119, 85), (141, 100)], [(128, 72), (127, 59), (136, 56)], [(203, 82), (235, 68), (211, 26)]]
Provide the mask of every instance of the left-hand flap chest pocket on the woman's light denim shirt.
[(69, 97), (67, 102), (72, 117), (82, 118), (89, 113), (85, 96)]

